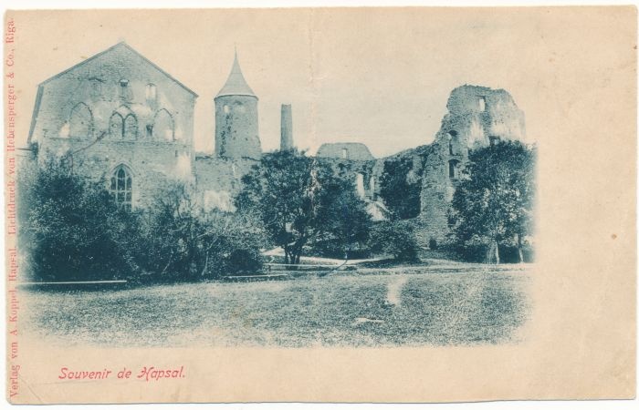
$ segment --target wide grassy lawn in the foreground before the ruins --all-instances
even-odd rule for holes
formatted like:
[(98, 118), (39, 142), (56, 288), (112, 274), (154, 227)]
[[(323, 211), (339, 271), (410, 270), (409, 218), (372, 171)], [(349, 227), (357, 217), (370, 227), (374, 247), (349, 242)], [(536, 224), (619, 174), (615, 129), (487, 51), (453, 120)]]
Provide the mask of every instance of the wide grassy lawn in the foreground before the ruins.
[(517, 342), (530, 268), (440, 264), (278, 282), (20, 291), (22, 332), (108, 346), (391, 346)]

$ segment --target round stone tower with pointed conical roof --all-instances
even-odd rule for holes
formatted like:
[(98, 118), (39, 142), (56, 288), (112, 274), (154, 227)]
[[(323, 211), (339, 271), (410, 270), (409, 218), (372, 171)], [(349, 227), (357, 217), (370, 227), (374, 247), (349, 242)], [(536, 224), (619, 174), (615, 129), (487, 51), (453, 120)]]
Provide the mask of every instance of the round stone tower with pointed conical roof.
[(224, 159), (259, 159), (257, 96), (246, 84), (237, 53), (224, 87), (215, 100), (215, 154)]

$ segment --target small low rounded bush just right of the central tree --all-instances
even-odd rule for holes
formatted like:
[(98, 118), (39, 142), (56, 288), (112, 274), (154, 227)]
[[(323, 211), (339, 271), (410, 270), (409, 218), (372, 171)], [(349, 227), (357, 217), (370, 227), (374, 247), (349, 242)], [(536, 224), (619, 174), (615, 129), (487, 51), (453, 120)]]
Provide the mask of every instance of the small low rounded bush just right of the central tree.
[(371, 249), (391, 254), (397, 261), (415, 261), (418, 246), (413, 225), (408, 220), (379, 222), (371, 232)]

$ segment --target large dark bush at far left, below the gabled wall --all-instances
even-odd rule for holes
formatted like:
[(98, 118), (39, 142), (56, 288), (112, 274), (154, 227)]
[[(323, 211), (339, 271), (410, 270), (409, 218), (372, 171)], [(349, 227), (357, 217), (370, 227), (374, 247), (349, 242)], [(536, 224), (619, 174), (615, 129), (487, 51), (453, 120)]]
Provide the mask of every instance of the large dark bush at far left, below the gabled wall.
[(139, 214), (120, 210), (104, 186), (55, 160), (21, 175), (20, 240), (33, 280), (121, 279), (139, 272)]

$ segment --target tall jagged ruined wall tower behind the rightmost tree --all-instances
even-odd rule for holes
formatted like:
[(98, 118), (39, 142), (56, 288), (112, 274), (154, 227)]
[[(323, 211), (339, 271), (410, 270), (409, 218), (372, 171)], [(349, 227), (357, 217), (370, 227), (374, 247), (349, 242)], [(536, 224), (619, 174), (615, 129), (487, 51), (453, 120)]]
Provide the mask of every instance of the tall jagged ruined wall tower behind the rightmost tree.
[(498, 140), (525, 138), (524, 113), (503, 89), (462, 86), (455, 88), (446, 104), (448, 113), (435, 135), (424, 163), (420, 238), (424, 243), (445, 241), (450, 231), (447, 210), (453, 199), (468, 150)]

